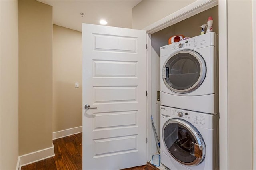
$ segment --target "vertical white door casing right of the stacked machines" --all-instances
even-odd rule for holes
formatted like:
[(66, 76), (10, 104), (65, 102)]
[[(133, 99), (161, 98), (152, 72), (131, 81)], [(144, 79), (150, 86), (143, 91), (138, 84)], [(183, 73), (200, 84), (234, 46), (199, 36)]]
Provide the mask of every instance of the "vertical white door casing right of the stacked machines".
[(227, 0), (219, 1), (219, 112), (220, 170), (228, 170), (228, 13)]

